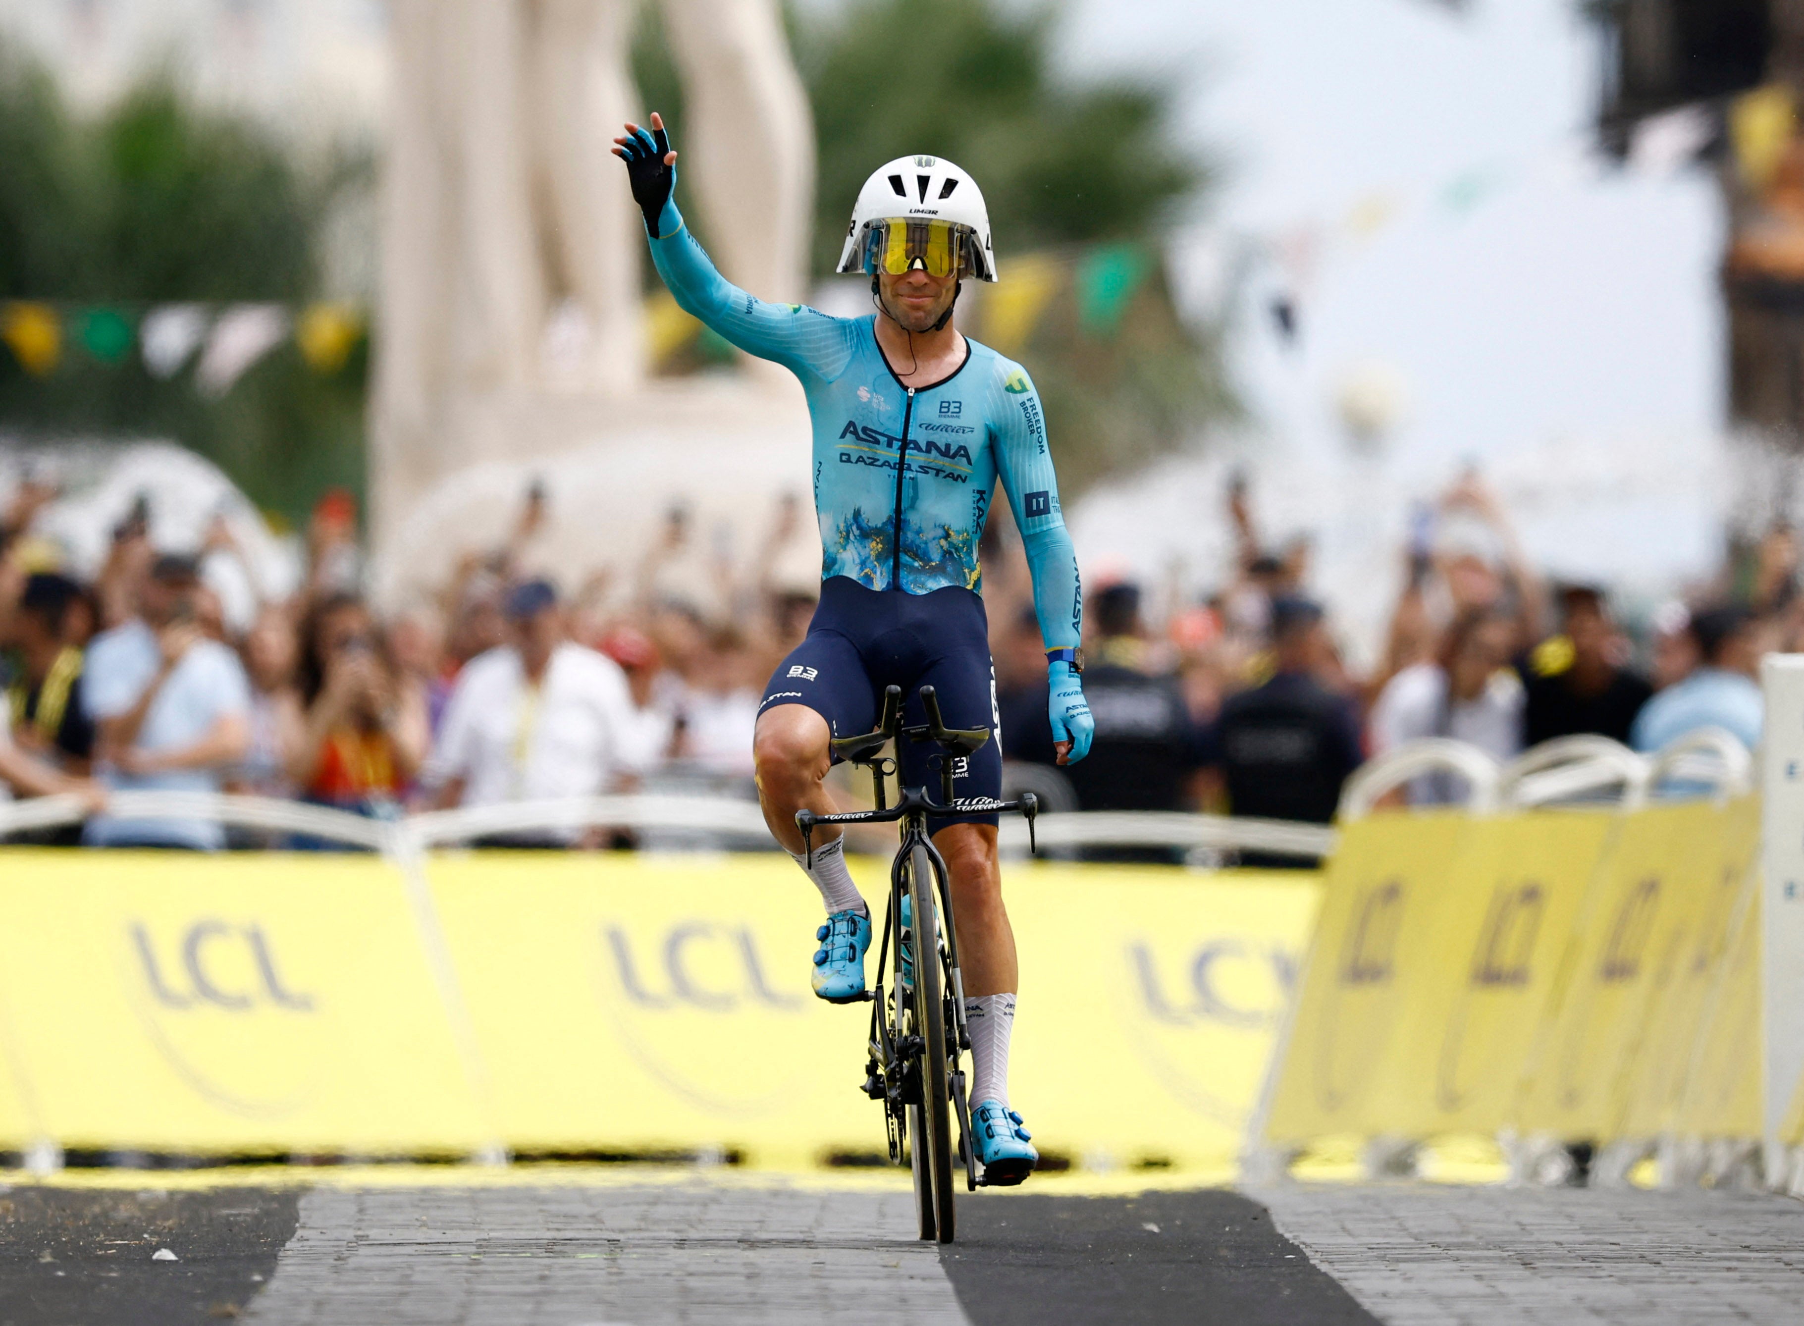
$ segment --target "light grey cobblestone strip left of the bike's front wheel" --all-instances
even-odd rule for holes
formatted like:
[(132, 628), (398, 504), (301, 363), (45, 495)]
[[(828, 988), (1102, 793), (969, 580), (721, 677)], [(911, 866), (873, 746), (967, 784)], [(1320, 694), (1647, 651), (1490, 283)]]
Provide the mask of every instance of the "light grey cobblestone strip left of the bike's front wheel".
[(256, 1326), (965, 1326), (907, 1192), (316, 1189)]

